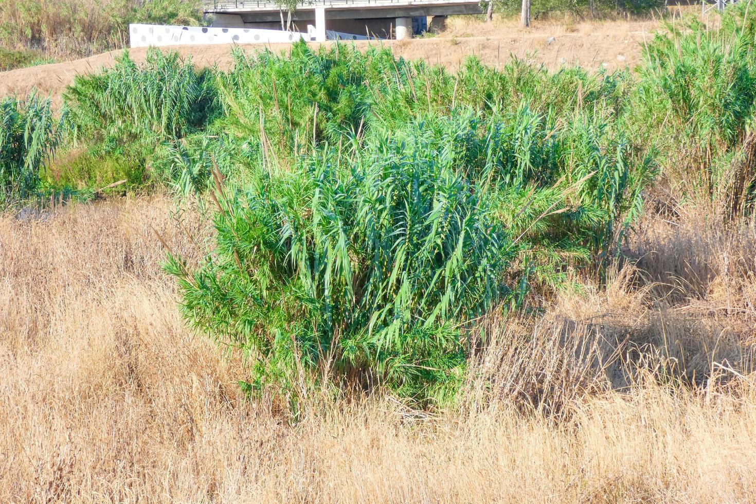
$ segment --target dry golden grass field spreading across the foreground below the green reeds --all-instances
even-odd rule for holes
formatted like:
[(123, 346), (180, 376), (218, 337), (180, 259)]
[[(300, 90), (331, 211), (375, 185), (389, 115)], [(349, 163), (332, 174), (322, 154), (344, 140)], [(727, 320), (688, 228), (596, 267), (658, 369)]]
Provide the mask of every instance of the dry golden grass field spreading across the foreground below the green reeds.
[[(651, 287), (635, 285), (650, 267), (564, 293), (537, 322), (492, 315), (495, 343), (476, 357), (455, 410), (363, 397), (311, 404), (292, 425), (265, 401), (243, 400), (240, 364), (182, 326), (153, 228), (197, 258), (188, 237), (203, 223), (187, 212), (178, 226), (174, 209), (153, 197), (0, 218), (2, 502), (756, 495), (756, 382), (712, 364), (724, 346), (746, 353), (740, 334), (730, 329), (714, 348), (722, 338), (705, 314), (660, 308)], [(671, 245), (659, 271), (680, 240), (662, 242)], [(701, 376), (670, 357), (720, 379), (691, 388)], [(733, 359), (728, 368), (748, 370)]]

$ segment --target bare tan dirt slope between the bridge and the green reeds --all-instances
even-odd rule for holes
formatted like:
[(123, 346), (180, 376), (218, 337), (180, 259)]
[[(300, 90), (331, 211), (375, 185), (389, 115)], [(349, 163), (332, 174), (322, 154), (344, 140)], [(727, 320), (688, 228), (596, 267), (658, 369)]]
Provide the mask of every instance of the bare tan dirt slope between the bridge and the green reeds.
[[(657, 29), (652, 22), (629, 23), (584, 23), (578, 25), (547, 24), (524, 30), (510, 23), (491, 25), (464, 21), (451, 24), (441, 36), (410, 41), (382, 41), (395, 54), (411, 59), (423, 58), (430, 63), (440, 63), (452, 69), (468, 56), (480, 57), (486, 64), (497, 66), (512, 55), (528, 57), (556, 69), (562, 64), (579, 63), (591, 69), (606, 67), (613, 70), (620, 66), (633, 66), (640, 57), (644, 40), (650, 39)], [(377, 42), (357, 42), (360, 48)], [(273, 51), (283, 51), (287, 44), (269, 45)], [(249, 50), (259, 50), (260, 45), (246, 45)], [(231, 65), (228, 45), (179, 46), (181, 54), (190, 56), (201, 66), (217, 64), (220, 68)], [(65, 63), (33, 66), (0, 73), (0, 96), (25, 95), (37, 89), (51, 95), (55, 104), (60, 104), (60, 94), (80, 73), (92, 73), (103, 66), (113, 64), (121, 51), (110, 51), (81, 60)], [(130, 50), (135, 60), (144, 60), (146, 49)]]

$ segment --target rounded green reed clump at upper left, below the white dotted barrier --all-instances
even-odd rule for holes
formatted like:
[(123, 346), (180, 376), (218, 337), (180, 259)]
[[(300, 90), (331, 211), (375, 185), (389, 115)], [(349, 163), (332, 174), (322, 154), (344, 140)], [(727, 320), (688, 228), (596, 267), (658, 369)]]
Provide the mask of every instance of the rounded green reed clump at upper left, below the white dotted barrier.
[(63, 175), (85, 184), (122, 177), (116, 181), (125, 179), (136, 187), (149, 179), (149, 159), (157, 160), (153, 175), (163, 177), (156, 150), (164, 153), (217, 113), (214, 72), (197, 71), (178, 54), (156, 49), (147, 51), (143, 65), (124, 51), (110, 69), (76, 76), (64, 100), (67, 119), (75, 137), (85, 141), (87, 154)]

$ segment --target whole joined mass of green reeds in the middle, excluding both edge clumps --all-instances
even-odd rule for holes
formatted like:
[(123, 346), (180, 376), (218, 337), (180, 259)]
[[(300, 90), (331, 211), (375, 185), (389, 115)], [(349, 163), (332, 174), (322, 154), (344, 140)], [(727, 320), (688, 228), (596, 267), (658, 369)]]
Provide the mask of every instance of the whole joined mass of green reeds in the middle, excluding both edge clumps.
[(453, 398), (482, 343), (472, 320), (600, 274), (655, 175), (627, 140), (627, 72), (471, 58), (448, 73), (304, 43), (234, 58), (197, 73), (125, 54), (78, 78), (69, 120), (107, 170), (82, 156), (57, 173), (212, 202), (212, 252), (166, 265), (184, 317), (242, 351), (247, 390), (290, 404), (334, 385)]

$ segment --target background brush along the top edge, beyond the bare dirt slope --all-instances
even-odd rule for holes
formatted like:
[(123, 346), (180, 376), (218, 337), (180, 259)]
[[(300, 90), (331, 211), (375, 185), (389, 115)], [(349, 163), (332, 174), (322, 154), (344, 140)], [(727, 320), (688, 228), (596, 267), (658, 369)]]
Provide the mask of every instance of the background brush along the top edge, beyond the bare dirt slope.
[[(494, 11), (509, 17), (519, 8), (512, 0), (492, 0)], [(285, 11), (307, 2), (280, 2)], [(659, 0), (533, 0), (536, 19), (568, 15), (596, 19), (658, 14)], [(482, 19), (482, 16), (464, 16)], [(26, 66), (30, 60), (89, 56), (128, 46), (129, 23), (199, 26), (212, 22), (200, 0), (0, 0), (0, 71)], [(37, 54), (30, 58), (29, 53)], [(11, 63), (14, 66), (11, 66)]]

